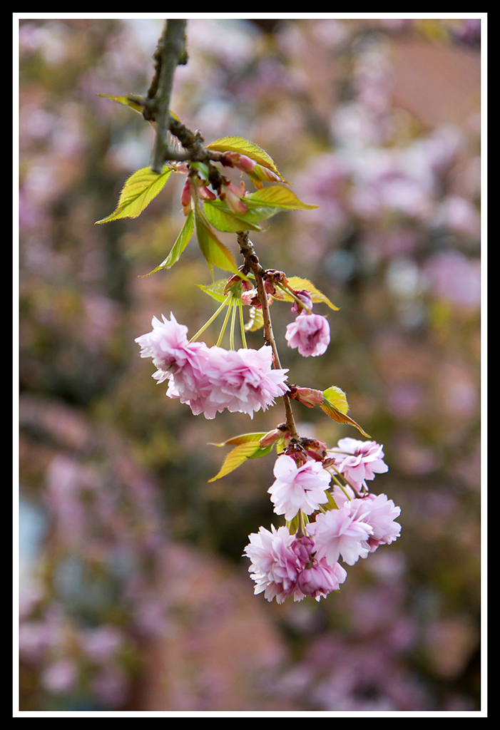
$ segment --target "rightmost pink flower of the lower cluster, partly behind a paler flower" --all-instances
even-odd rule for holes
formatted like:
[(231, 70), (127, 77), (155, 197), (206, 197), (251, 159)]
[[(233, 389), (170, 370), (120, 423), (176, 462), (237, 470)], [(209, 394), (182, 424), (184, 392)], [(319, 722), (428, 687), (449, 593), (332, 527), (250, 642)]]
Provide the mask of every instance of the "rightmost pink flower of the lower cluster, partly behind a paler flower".
[(368, 538), (370, 553), (377, 550), (379, 545), (391, 545), (401, 534), (401, 525), (394, 522), (401, 514), (401, 507), (396, 507), (386, 494), (366, 494), (362, 499), (349, 502), (349, 508), (356, 520), (361, 520), (372, 528), (372, 534)]

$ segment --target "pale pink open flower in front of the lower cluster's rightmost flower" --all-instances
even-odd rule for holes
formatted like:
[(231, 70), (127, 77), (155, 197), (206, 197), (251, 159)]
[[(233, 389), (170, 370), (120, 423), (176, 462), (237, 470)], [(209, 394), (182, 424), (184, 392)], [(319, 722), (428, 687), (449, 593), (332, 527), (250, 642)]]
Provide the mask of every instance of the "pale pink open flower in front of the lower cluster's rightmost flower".
[(328, 565), (336, 563), (339, 556), (347, 564), (354, 565), (359, 557), (368, 555), (366, 541), (373, 534), (372, 526), (357, 520), (348, 505), (320, 513), (315, 522), (309, 523), (307, 531), (314, 537), (316, 558), (326, 558)]

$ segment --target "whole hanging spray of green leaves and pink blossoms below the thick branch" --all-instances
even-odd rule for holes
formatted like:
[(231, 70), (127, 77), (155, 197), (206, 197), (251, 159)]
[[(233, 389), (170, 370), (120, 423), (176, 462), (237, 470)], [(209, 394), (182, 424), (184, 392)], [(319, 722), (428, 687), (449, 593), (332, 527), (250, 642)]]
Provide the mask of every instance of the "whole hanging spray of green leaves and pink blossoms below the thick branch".
[[(196, 135), (193, 138), (197, 145), (203, 141)], [(346, 579), (339, 561), (353, 565), (399, 537), (401, 526), (395, 520), (400, 509), (385, 494), (369, 492), (367, 483), (388, 470), (380, 444), (347, 437), (328, 449), (317, 439), (301, 437), (293, 417), (292, 401), (299, 401), (305, 407), (320, 407), (338, 423), (355, 426), (368, 437), (347, 416), (349, 407), (340, 388), (331, 385), (326, 391), (318, 391), (289, 382), (289, 371), (280, 364), (272, 331), (271, 305), (277, 300), (291, 302), (295, 318), (286, 326), (286, 344), (302, 357), (319, 357), (328, 348), (331, 331), (328, 318), (313, 312), (313, 305), (321, 302), (332, 310), (337, 307), (309, 280), (264, 269), (247, 237), (247, 228), (260, 231), (257, 221), (281, 209), (315, 206), (302, 203), (281, 184), (263, 187), (264, 182), (286, 181), (269, 155), (253, 142), (226, 137), (207, 145), (205, 152), (205, 161), (200, 161), (203, 155), (199, 156), (197, 147), (193, 160), (166, 166), (162, 173), (161, 185), (173, 171), (187, 177), (180, 199), (185, 224), (158, 269), (169, 269), (176, 263), (196, 228), (211, 271), (218, 266), (232, 272), (227, 280), (203, 287), (221, 302), (220, 307), (191, 339), (188, 328), (171, 313), (170, 319), (165, 315), (161, 319), (153, 317), (152, 330), (137, 337), (136, 342), (142, 358), (153, 360), (153, 378), (158, 383), (168, 382), (166, 395), (187, 404), (194, 415), (213, 419), (228, 410), (253, 418), (255, 412), (267, 410), (282, 398), (285, 423), (268, 433), (240, 434), (221, 444), (233, 445), (234, 449), (212, 480), (233, 471), (247, 458), (266, 456), (276, 448), (275, 480), (268, 491), (274, 512), (285, 524), (272, 525), (270, 531), (261, 527), (249, 536), (244, 554), (250, 559), (255, 593), (264, 592), (268, 601), (276, 599), (278, 603), (291, 596), (295, 601), (305, 596), (320, 600), (338, 591)], [(246, 173), (257, 191), (248, 193), (244, 183), (231, 183), (215, 168), (214, 161)], [(149, 172), (133, 175), (122, 191), (117, 210), (104, 220), (124, 215), (130, 201), (136, 199), (132, 192), (136, 193), (137, 186), (145, 185), (147, 190), (147, 185), (158, 183), (155, 177), (151, 180)], [(128, 184), (132, 183), (134, 188), (129, 194)], [(154, 194), (157, 191), (155, 188)], [(129, 214), (135, 217), (140, 210)], [(242, 266), (236, 268), (231, 252), (219, 241), (215, 230), (236, 233), (245, 261)], [(244, 307), (250, 308), (246, 324)], [(199, 338), (224, 310), (218, 340), (215, 345), (207, 345)], [(236, 349), (238, 319), (242, 347)], [(228, 324), (226, 349), (222, 343)], [(245, 332), (259, 328), (264, 329), (264, 345), (260, 349), (247, 347)]]

